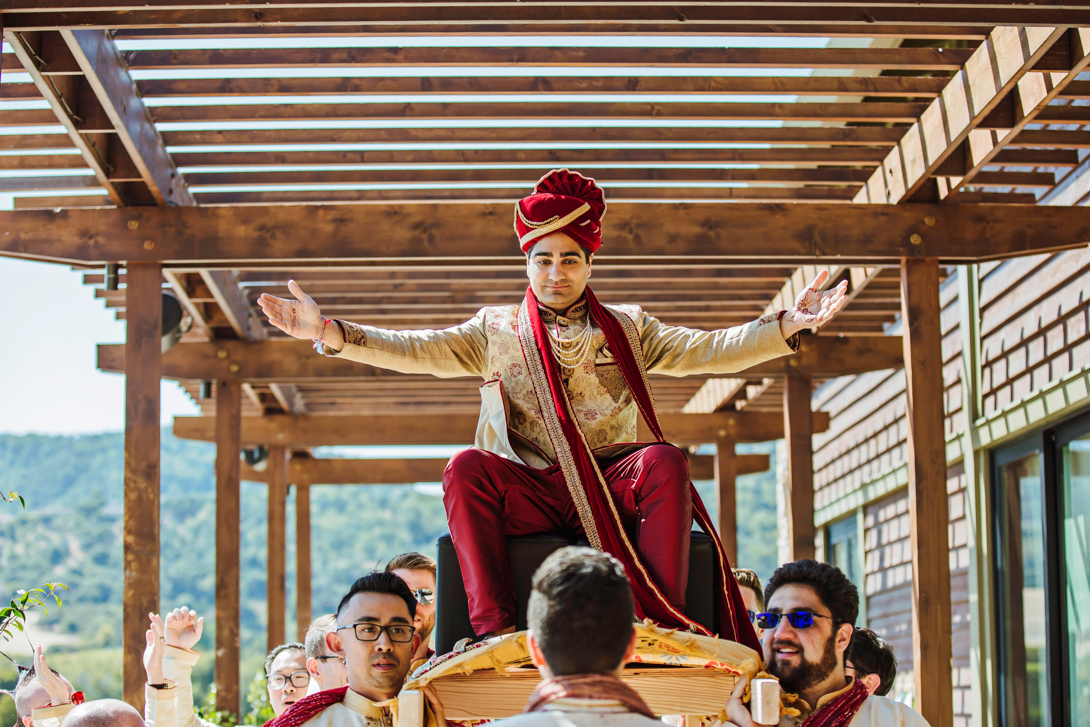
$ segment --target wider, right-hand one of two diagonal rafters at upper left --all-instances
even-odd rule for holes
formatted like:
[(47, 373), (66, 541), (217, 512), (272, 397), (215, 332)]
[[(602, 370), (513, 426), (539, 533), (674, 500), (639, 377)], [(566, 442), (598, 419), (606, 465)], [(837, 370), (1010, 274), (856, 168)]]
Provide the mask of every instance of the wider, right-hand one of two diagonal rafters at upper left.
[(61, 31), (156, 204), (193, 204), (136, 85), (106, 31)]

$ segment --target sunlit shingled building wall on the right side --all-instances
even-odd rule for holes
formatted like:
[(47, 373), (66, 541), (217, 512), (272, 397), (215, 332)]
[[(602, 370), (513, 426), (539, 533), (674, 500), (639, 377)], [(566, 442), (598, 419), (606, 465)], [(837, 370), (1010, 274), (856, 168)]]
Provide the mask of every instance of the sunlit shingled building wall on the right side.
[[(941, 290), (945, 434), (966, 427), (956, 271)], [(1090, 250), (993, 263), (980, 268), (979, 413), (995, 415), (1090, 366)], [(898, 335), (899, 325), (888, 331)], [(971, 389), (970, 389), (971, 390)], [(814, 437), (819, 524), (862, 509), (868, 625), (893, 644), (900, 663), (894, 694), (912, 689), (911, 545), (908, 522), (905, 376), (900, 369), (835, 379), (814, 395), (832, 414)], [(1012, 433), (1012, 436), (1015, 433)], [(969, 523), (960, 461), (948, 469), (955, 725), (973, 712), (969, 610)]]

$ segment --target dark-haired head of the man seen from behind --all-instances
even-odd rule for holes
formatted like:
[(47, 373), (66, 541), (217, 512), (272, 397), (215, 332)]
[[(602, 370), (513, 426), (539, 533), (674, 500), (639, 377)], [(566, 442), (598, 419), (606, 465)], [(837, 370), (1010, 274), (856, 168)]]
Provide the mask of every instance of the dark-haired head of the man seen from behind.
[(632, 589), (606, 553), (560, 548), (534, 573), (528, 621), (555, 676), (608, 674), (632, 640)]

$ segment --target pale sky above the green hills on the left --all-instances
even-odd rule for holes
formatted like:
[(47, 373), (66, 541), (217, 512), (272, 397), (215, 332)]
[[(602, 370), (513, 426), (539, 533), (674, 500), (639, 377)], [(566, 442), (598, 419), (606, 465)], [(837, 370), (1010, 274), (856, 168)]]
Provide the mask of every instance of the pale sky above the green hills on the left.
[[(125, 340), (83, 272), (0, 257), (0, 290), (15, 311), (0, 348), (0, 434), (94, 434), (124, 429), (125, 381), (95, 367), (96, 343)], [(162, 383), (161, 415), (195, 415), (173, 381)]]

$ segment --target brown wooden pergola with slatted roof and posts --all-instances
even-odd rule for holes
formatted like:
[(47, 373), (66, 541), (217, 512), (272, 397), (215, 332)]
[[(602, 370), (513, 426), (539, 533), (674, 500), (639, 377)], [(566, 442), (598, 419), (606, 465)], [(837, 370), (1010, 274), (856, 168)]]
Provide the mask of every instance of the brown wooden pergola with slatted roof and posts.
[[(607, 190), (593, 279), (606, 302), (726, 327), (789, 306), (822, 267), (829, 284), (849, 281), (847, 308), (797, 355), (731, 377), (654, 377), (657, 405), (673, 441), (718, 446), (693, 472), (718, 481), (731, 554), (734, 478), (767, 468), (734, 445), (786, 438), (792, 557), (812, 557), (811, 441), (828, 422), (811, 414), (813, 387), (905, 367), (917, 708), (950, 727), (938, 284), (945, 266), (1090, 241), (1090, 210), (1036, 205), (1083, 171), (1090, 148), (1079, 102), (1090, 82), (1077, 78), (1090, 2), (0, 0), (0, 27), (2, 73), (26, 74), (0, 96), (45, 101), (0, 106), (0, 126), (21, 128), (0, 135), (0, 168), (43, 171), (0, 178), (0, 193), (19, 195), (0, 213), (0, 255), (88, 270), (126, 322), (126, 342), (99, 349), (100, 367), (126, 380), (126, 699), (141, 700), (135, 644), (158, 609), (160, 378), (204, 414), (175, 433), (218, 448), (217, 699), (237, 710), (240, 477), (269, 485), (275, 644), (289, 486), (305, 625), (308, 487), (435, 480), (443, 465), (332, 464), (308, 448), (469, 445), (480, 402), (479, 381), (319, 358), (264, 323), (254, 299), (286, 295), (293, 278), (327, 315), (389, 328), (517, 303), (511, 203), (564, 165)], [(421, 36), (434, 43), (405, 45)], [(602, 47), (595, 36), (833, 41)], [(475, 45), (448, 43), (464, 37)], [(262, 47), (283, 38), (308, 43)], [(166, 43), (124, 49), (140, 40)], [(63, 133), (41, 129), (58, 123)], [(165, 282), (194, 326), (161, 354)], [(886, 336), (898, 315), (903, 337)], [(201, 396), (207, 381), (214, 398)], [(243, 473), (240, 448), (253, 445), (269, 448), (269, 465)]]

